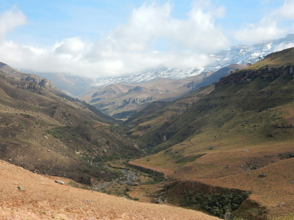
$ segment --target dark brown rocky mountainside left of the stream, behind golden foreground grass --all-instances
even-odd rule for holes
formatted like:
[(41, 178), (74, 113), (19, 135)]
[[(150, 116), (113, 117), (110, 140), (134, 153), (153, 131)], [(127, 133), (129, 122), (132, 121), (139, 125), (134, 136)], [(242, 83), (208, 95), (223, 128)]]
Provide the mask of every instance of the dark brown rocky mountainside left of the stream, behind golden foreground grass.
[(142, 155), (118, 122), (48, 79), (1, 63), (1, 160), (85, 184), (111, 180), (120, 174), (103, 165), (105, 160)]

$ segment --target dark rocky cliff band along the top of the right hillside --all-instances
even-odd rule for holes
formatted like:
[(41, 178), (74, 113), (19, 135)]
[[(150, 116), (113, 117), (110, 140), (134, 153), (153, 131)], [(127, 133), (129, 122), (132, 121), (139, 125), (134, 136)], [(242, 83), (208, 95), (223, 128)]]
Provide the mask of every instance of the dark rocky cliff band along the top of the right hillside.
[(294, 66), (286, 65), (281, 67), (265, 67), (259, 70), (240, 70), (234, 72), (228, 76), (220, 78), (220, 81), (216, 83), (215, 87), (221, 85), (230, 85), (236, 82), (251, 82), (256, 77), (261, 78), (272, 78), (276, 79), (280, 76), (293, 77)]

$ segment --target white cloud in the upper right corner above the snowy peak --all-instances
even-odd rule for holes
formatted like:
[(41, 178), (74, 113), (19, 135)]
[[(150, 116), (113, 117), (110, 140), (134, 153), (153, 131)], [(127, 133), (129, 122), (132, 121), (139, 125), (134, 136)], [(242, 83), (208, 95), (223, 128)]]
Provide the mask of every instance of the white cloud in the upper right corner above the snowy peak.
[(283, 25), (285, 22), (294, 21), (294, 1), (285, 1), (284, 4), (268, 13), (257, 23), (244, 23), (239, 30), (234, 32), (234, 38), (243, 43), (259, 43), (285, 36), (292, 30)]

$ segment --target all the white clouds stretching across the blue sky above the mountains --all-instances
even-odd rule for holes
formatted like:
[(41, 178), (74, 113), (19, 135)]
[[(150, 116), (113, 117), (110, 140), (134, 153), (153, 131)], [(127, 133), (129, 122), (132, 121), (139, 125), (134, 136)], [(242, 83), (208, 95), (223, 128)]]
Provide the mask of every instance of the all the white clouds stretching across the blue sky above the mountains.
[[(243, 24), (233, 33), (242, 43), (274, 39), (293, 31), (280, 27), (294, 20), (294, 1), (269, 13), (257, 23)], [(36, 72), (65, 72), (92, 78), (122, 75), (157, 67), (193, 68), (208, 65), (207, 54), (230, 46), (216, 20), (226, 8), (210, 1), (194, 1), (184, 18), (172, 16), (173, 6), (144, 3), (134, 8), (125, 23), (96, 40), (81, 36), (64, 38), (54, 45), (22, 45), (6, 39), (27, 18), (14, 7), (0, 14), (0, 61), (14, 68)], [(95, 28), (95, 27), (93, 27)], [(285, 46), (285, 45), (284, 45)]]

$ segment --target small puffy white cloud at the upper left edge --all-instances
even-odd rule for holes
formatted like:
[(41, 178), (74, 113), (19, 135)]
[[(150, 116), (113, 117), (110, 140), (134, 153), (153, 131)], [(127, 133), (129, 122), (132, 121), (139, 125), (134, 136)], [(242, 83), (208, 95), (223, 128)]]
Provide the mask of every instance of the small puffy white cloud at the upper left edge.
[(0, 40), (6, 38), (6, 34), (9, 31), (13, 31), (14, 28), (26, 23), (26, 16), (19, 9), (14, 6), (9, 11), (4, 11), (0, 14)]

